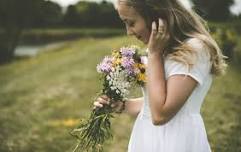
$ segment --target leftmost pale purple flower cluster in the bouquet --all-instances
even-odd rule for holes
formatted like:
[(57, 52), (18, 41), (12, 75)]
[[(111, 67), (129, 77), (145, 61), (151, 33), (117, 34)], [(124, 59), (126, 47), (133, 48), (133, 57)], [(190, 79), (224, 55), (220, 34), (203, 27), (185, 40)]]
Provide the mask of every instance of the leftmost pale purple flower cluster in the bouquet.
[(106, 56), (103, 61), (97, 65), (97, 72), (99, 73), (109, 73), (112, 68), (112, 61), (111, 57)]

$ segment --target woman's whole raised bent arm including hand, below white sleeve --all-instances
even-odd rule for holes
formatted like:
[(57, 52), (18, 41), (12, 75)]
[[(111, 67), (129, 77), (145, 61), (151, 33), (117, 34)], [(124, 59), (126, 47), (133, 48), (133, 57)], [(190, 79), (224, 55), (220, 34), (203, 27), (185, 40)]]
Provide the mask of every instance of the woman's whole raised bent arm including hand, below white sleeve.
[(169, 42), (167, 24), (152, 23), (148, 42), (147, 92), (154, 125), (168, 122), (184, 105), (197, 85), (190, 76), (173, 75), (166, 81), (163, 51)]

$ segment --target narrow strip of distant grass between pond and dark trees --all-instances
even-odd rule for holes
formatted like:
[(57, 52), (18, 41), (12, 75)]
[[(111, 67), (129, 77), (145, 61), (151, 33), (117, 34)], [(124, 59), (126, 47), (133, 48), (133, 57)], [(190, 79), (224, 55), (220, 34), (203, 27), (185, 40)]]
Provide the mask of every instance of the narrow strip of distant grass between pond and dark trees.
[(112, 28), (31, 29), (23, 31), (19, 44), (45, 44), (63, 40), (75, 40), (83, 37), (107, 38), (123, 34), (125, 34), (125, 30)]

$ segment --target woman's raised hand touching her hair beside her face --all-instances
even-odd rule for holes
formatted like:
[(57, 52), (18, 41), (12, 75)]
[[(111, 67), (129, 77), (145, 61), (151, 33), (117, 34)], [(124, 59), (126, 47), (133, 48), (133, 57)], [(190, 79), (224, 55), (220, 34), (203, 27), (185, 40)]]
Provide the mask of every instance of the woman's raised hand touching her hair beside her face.
[(158, 27), (156, 22), (152, 22), (151, 35), (148, 42), (148, 49), (150, 54), (163, 54), (164, 48), (167, 46), (170, 35), (167, 30), (167, 25), (162, 19), (158, 19)]

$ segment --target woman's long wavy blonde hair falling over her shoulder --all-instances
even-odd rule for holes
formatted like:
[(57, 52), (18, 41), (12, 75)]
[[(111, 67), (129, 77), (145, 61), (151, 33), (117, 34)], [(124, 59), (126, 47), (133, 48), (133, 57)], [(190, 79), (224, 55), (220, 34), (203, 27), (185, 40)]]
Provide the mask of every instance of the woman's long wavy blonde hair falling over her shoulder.
[(190, 68), (194, 64), (193, 48), (185, 41), (198, 38), (208, 48), (211, 73), (221, 75), (225, 73), (227, 64), (216, 41), (208, 32), (205, 20), (193, 10), (186, 9), (178, 0), (118, 0), (119, 3), (133, 7), (146, 21), (151, 30), (152, 21), (162, 18), (167, 23), (170, 34), (169, 45), (165, 48), (165, 55), (182, 62)]

